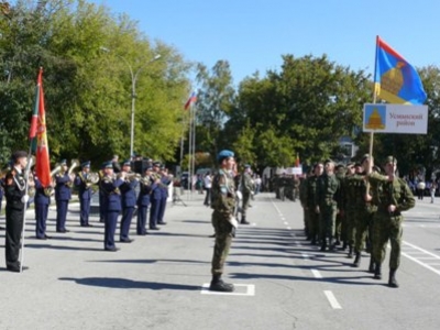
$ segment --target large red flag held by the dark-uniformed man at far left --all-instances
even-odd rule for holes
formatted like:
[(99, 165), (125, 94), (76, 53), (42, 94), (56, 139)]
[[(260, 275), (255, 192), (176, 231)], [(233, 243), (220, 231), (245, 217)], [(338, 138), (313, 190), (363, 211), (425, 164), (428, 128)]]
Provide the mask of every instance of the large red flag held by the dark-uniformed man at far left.
[[(35, 172), (43, 187), (51, 185), (51, 162), (48, 158), (48, 145), (46, 134), (46, 111), (44, 108), (44, 92), (43, 92), (43, 68), (40, 68), (38, 78), (36, 80), (36, 98), (35, 109), (32, 116), (32, 123), (30, 130), (30, 138), (33, 139), (32, 143), (35, 152)], [(36, 128), (34, 129), (34, 135), (32, 125), (34, 124), (34, 118), (36, 118)]]

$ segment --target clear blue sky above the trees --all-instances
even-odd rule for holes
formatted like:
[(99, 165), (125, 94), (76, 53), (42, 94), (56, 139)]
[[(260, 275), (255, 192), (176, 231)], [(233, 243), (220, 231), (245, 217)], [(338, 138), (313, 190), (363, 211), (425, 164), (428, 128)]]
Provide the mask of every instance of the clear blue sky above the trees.
[(208, 68), (228, 61), (235, 84), (279, 70), (285, 54), (327, 54), (373, 74), (376, 35), (416, 67), (440, 64), (440, 0), (89, 1), (125, 12), (186, 61)]

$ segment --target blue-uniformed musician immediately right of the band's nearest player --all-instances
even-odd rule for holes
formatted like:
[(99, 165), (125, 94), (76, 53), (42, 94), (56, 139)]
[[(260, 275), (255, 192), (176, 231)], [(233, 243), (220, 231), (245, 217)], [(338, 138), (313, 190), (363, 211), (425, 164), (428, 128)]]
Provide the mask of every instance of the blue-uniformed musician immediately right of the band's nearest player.
[[(131, 167), (130, 161), (125, 161), (122, 168), (129, 169)], [(130, 243), (130, 226), (133, 219), (134, 208), (136, 206), (136, 191), (135, 188), (139, 185), (136, 179), (125, 180), (121, 185), (121, 199), (122, 199), (122, 219), (121, 219), (121, 232), (119, 240), (121, 243)]]

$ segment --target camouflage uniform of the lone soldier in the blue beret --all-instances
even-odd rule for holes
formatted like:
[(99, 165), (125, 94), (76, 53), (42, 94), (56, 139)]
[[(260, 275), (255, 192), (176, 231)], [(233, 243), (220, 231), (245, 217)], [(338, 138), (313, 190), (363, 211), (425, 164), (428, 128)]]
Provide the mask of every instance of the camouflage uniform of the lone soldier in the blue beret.
[(212, 180), (212, 226), (216, 231), (216, 244), (212, 255), (212, 275), (223, 273), (224, 262), (229, 254), (234, 228), (230, 220), (234, 215), (235, 187), (228, 172), (220, 169)]

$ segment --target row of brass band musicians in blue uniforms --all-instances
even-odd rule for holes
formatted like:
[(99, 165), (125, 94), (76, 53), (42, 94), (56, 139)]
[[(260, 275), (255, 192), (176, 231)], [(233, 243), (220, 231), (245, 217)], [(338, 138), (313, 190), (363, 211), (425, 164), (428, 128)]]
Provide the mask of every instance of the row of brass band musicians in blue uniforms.
[[(78, 199), (80, 204), (80, 226), (92, 227), (89, 223), (91, 195), (94, 194), (91, 185), (90, 162), (81, 164), (81, 172), (78, 175), (69, 175), (65, 160), (61, 162), (61, 170), (54, 175), (54, 189), (56, 200), (56, 231), (66, 233), (66, 217), (68, 202), (72, 199), (72, 186), (78, 188)], [(38, 178), (34, 177), (35, 183), (35, 220), (36, 238), (48, 239), (46, 235), (46, 219), (48, 206), (51, 204), (48, 189), (44, 188)], [(130, 243), (129, 237), (131, 221), (134, 210), (138, 207), (136, 233), (145, 235), (146, 213), (150, 211), (150, 229), (158, 230), (157, 224), (165, 224), (164, 213), (166, 200), (168, 198), (168, 185), (170, 178), (166, 168), (161, 168), (161, 164), (154, 163), (152, 167), (145, 169), (142, 177), (131, 173), (131, 163), (129, 161), (122, 164), (122, 172), (118, 175), (113, 173), (113, 164), (107, 162), (102, 165), (99, 173), (99, 205), (100, 221), (105, 222), (105, 250), (117, 251), (114, 244), (114, 233), (118, 217), (122, 212), (120, 226), (120, 242)], [(139, 195), (136, 187), (140, 185)]]

